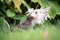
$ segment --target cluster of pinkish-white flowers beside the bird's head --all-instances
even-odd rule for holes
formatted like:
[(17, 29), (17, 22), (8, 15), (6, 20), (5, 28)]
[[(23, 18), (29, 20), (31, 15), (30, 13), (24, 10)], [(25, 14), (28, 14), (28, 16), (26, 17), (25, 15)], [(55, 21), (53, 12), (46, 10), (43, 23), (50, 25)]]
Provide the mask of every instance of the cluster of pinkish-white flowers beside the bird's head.
[(31, 16), (34, 19), (32, 20), (32, 22), (34, 22), (35, 24), (42, 24), (44, 23), (44, 20), (47, 20), (47, 18), (50, 18), (48, 11), (49, 11), (50, 7), (48, 8), (40, 8), (40, 9), (28, 9), (27, 11), (27, 16)]

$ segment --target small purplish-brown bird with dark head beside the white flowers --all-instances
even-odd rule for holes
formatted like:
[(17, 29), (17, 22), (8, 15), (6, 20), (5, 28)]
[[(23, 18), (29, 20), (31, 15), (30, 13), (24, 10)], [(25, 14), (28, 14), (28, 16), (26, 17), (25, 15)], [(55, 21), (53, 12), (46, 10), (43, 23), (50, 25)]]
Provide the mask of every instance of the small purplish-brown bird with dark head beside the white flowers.
[(28, 29), (31, 27), (31, 21), (33, 20), (33, 17), (28, 17), (26, 21), (24, 21), (22, 24), (19, 24), (17, 27), (19, 29)]

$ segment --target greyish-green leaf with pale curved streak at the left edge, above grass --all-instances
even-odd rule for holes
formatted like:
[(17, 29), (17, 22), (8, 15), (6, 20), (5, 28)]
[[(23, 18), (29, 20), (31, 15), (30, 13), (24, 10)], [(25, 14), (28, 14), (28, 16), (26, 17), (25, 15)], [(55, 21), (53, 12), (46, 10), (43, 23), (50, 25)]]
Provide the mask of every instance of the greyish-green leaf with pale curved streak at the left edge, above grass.
[(10, 30), (9, 23), (5, 20), (4, 17), (0, 17), (0, 29), (4, 31)]

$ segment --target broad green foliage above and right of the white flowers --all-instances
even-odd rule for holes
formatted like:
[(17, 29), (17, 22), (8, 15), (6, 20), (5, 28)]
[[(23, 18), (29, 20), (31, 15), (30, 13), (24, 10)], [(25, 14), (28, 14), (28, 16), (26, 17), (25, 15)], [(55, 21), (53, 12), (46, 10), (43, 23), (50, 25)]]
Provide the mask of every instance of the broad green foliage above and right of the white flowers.
[(58, 14), (60, 15), (60, 5), (56, 1), (49, 1), (49, 0), (31, 0), (33, 2), (38, 2), (42, 8), (51, 7), (51, 11), (49, 11), (49, 15), (51, 18), (55, 18), (55, 16)]

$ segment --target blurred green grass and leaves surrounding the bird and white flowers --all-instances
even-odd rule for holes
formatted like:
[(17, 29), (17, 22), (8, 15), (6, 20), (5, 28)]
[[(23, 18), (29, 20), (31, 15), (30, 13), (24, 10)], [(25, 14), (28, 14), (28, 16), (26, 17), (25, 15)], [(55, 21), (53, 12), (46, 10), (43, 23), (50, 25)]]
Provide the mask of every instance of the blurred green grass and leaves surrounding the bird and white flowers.
[[(50, 19), (42, 25), (25, 30), (17, 29), (23, 23), (29, 8), (51, 6)], [(43, 38), (48, 32), (48, 39)], [(0, 0), (0, 40), (60, 40), (60, 0)]]

